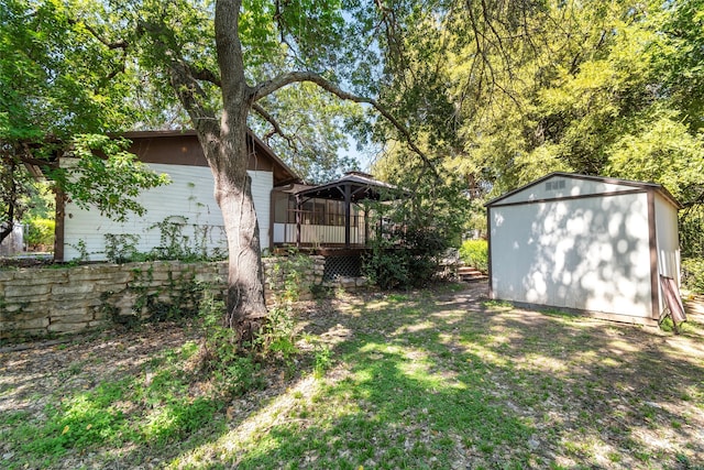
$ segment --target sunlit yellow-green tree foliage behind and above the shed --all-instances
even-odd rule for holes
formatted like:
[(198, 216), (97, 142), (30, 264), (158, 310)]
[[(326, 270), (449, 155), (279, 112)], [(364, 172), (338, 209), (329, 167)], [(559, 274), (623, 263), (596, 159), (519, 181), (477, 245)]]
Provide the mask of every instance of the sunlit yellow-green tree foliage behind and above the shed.
[(385, 103), (415, 112), (438, 165), (494, 196), (570, 171), (697, 204), (702, 7), (447, 2), (418, 14)]

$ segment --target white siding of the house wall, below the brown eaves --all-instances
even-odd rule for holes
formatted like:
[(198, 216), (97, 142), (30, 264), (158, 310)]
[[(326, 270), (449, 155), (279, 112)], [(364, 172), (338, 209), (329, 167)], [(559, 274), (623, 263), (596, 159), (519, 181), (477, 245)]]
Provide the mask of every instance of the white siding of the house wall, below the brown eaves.
[[(169, 217), (187, 219), (184, 234), (196, 237), (193, 226), (208, 226), (207, 247), (226, 250), (222, 214), (213, 197), (213, 178), (209, 167), (167, 164), (147, 164), (157, 173), (166, 173), (172, 184), (144, 192), (139, 201), (146, 208), (144, 217), (131, 215), (120, 223), (101, 216), (98, 210), (84, 210), (68, 201), (64, 218), (64, 261), (80, 256), (78, 243), (85, 242), (90, 261), (101, 261), (105, 255), (107, 233), (132, 233), (140, 237), (136, 248), (147, 252), (161, 242), (161, 231), (154, 227)], [(260, 220), (263, 248), (268, 247), (270, 194), (273, 188), (271, 172), (248, 172), (252, 177), (254, 207)], [(173, 219), (176, 220), (176, 219)]]

